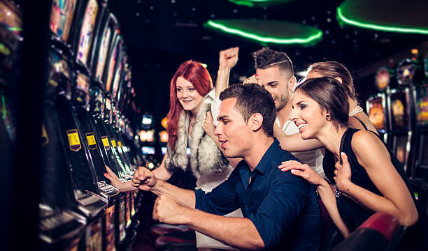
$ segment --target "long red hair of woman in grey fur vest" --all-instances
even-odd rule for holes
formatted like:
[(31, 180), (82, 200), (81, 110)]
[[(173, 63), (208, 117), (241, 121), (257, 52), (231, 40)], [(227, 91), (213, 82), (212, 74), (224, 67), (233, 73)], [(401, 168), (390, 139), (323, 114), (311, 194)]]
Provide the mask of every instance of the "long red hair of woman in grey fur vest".
[(168, 132), (168, 144), (171, 149), (174, 149), (174, 146), (176, 146), (178, 121), (180, 120), (180, 113), (183, 110), (177, 98), (176, 89), (178, 77), (183, 77), (188, 82), (192, 83), (194, 89), (203, 97), (213, 88), (213, 80), (208, 70), (206, 70), (201, 63), (192, 60), (181, 63), (176, 74), (174, 74), (171, 79), (171, 86), (169, 89), (169, 112), (167, 115), (168, 126), (166, 127), (166, 131)]

